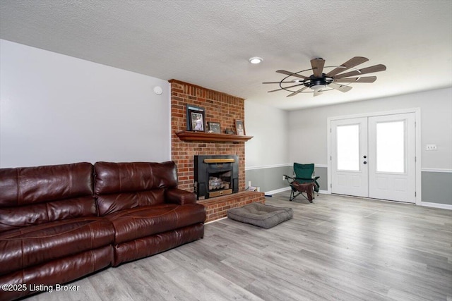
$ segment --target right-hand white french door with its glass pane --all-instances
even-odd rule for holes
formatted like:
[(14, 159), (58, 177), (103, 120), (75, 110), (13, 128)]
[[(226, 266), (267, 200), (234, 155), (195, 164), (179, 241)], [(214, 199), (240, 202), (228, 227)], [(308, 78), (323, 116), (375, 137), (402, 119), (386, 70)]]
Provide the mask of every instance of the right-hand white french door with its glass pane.
[(369, 117), (369, 197), (415, 202), (415, 114)]

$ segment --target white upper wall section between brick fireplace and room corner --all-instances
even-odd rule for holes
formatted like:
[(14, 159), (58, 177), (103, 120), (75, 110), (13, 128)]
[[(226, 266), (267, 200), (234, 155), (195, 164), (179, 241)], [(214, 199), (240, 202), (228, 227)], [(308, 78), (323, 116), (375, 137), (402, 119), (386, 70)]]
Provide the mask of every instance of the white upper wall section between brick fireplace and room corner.
[(288, 112), (245, 100), (246, 168), (279, 166), (289, 163)]

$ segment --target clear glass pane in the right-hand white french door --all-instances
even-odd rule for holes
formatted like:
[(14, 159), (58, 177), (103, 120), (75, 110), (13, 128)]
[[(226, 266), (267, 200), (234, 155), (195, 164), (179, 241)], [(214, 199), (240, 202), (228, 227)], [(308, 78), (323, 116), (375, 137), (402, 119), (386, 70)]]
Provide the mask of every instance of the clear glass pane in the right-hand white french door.
[(376, 123), (376, 171), (405, 172), (405, 121)]

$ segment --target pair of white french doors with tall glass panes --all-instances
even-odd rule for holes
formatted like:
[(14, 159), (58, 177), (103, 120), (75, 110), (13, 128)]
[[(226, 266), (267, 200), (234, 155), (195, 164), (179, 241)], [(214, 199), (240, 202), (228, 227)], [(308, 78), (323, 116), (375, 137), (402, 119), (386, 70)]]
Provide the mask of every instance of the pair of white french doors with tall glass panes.
[(331, 192), (415, 202), (415, 113), (331, 121)]

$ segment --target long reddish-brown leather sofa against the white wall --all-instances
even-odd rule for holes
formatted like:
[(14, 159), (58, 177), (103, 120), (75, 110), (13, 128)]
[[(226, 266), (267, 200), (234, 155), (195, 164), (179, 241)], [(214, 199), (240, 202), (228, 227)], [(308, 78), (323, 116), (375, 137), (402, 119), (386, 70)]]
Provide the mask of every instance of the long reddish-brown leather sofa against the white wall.
[(0, 300), (203, 238), (205, 220), (174, 162), (2, 168)]

